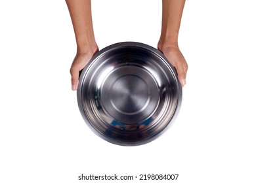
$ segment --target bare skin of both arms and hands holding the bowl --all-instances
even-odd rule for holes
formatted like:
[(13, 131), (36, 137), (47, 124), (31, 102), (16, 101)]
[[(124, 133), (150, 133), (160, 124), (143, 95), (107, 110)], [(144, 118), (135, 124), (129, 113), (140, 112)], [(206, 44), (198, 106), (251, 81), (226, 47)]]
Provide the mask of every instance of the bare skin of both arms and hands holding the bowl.
[[(188, 65), (178, 45), (179, 27), (185, 0), (162, 0), (162, 25), (158, 49), (163, 52), (178, 73), (182, 87), (186, 84)], [(66, 0), (77, 43), (77, 54), (70, 68), (72, 90), (77, 90), (79, 71), (98, 52), (93, 32), (91, 0)]]

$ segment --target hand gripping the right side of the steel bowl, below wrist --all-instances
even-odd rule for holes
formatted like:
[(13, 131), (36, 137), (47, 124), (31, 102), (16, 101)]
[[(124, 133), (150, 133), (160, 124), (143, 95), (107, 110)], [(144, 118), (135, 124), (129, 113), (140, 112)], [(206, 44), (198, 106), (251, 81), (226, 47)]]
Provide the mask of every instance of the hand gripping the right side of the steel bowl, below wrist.
[(186, 59), (181, 53), (179, 46), (177, 44), (169, 45), (169, 46), (161, 46), (158, 44), (158, 50), (160, 50), (164, 56), (168, 59), (169, 63), (175, 67), (179, 82), (183, 87), (186, 84), (186, 73), (188, 71), (188, 64), (186, 63)]

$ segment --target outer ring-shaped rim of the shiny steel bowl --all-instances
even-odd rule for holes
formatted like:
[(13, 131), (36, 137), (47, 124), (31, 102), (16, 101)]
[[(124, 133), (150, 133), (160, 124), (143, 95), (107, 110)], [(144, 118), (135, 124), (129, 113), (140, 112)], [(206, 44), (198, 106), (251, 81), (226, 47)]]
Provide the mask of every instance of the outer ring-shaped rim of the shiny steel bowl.
[[(169, 122), (167, 123), (167, 125), (161, 129), (161, 131), (158, 131), (158, 133), (156, 133), (156, 135), (150, 137), (150, 139), (146, 139), (146, 140), (142, 140), (142, 141), (136, 141), (136, 142), (123, 142), (123, 141), (115, 141), (114, 139), (110, 139), (108, 138), (106, 135), (103, 135), (102, 133), (100, 133), (97, 129), (95, 129), (95, 127), (91, 124), (91, 122), (89, 122), (89, 120), (87, 119), (87, 116), (85, 114), (85, 111), (83, 110), (83, 103), (82, 103), (82, 96), (81, 96), (81, 92), (83, 90), (82, 86), (83, 86), (83, 81), (85, 76), (87, 75), (87, 73), (89, 72), (91, 66), (93, 65), (93, 63), (95, 63), (101, 56), (108, 54), (108, 52), (112, 52), (113, 50), (116, 49), (120, 49), (120, 48), (125, 48), (125, 47), (139, 47), (139, 48), (143, 48), (145, 50), (148, 50), (150, 52), (152, 52), (153, 54), (156, 54), (156, 56), (158, 56), (163, 63), (165, 63), (165, 66), (168, 67), (169, 71), (172, 71), (175, 78), (175, 83), (177, 84), (177, 105), (176, 108), (173, 112), (173, 115), (171, 117), (171, 119), (169, 119)], [(163, 55), (162, 52), (160, 52), (160, 50), (149, 46), (148, 44), (144, 44), (141, 42), (117, 42), (115, 44), (111, 44), (110, 46), (106, 46), (105, 48), (102, 48), (102, 50), (99, 50), (98, 52), (96, 52), (96, 54), (89, 60), (89, 62), (87, 63), (87, 65), (85, 65), (85, 67), (83, 68), (83, 70), (80, 72), (79, 75), (79, 84), (78, 84), (78, 88), (77, 88), (77, 103), (78, 103), (78, 107), (81, 113), (81, 116), (83, 117), (83, 120), (85, 121), (85, 124), (87, 124), (87, 126), (101, 139), (104, 139), (105, 141), (108, 141), (112, 144), (116, 144), (116, 145), (121, 145), (121, 146), (139, 146), (142, 144), (147, 144), (148, 142), (154, 141), (156, 140), (158, 137), (160, 137), (163, 133), (165, 133), (165, 131), (167, 131), (167, 129), (169, 129), (169, 127), (171, 127), (171, 125), (173, 125), (173, 123), (175, 122), (175, 120), (177, 119), (177, 116), (179, 114), (179, 110), (181, 108), (181, 103), (182, 103), (182, 87), (181, 87), (181, 83), (179, 82), (178, 76), (177, 76), (177, 71), (175, 69), (175, 67), (173, 67), (173, 65), (171, 65), (171, 63), (169, 63), (168, 59)]]

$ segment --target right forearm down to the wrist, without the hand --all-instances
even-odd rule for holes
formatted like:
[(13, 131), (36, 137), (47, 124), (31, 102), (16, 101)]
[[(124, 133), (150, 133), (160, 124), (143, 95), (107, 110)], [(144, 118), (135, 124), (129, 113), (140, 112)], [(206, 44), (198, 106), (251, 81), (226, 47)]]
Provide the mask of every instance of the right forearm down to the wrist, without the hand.
[(162, 1), (163, 10), (160, 44), (177, 44), (185, 0)]

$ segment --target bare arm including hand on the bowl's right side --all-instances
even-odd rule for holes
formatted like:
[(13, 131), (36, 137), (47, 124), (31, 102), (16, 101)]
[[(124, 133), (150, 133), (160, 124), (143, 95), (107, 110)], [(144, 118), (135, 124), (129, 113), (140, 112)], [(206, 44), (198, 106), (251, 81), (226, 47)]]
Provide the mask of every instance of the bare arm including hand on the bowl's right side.
[(179, 28), (185, 0), (162, 0), (162, 25), (158, 49), (176, 68), (181, 85), (186, 84), (188, 65), (178, 45)]

